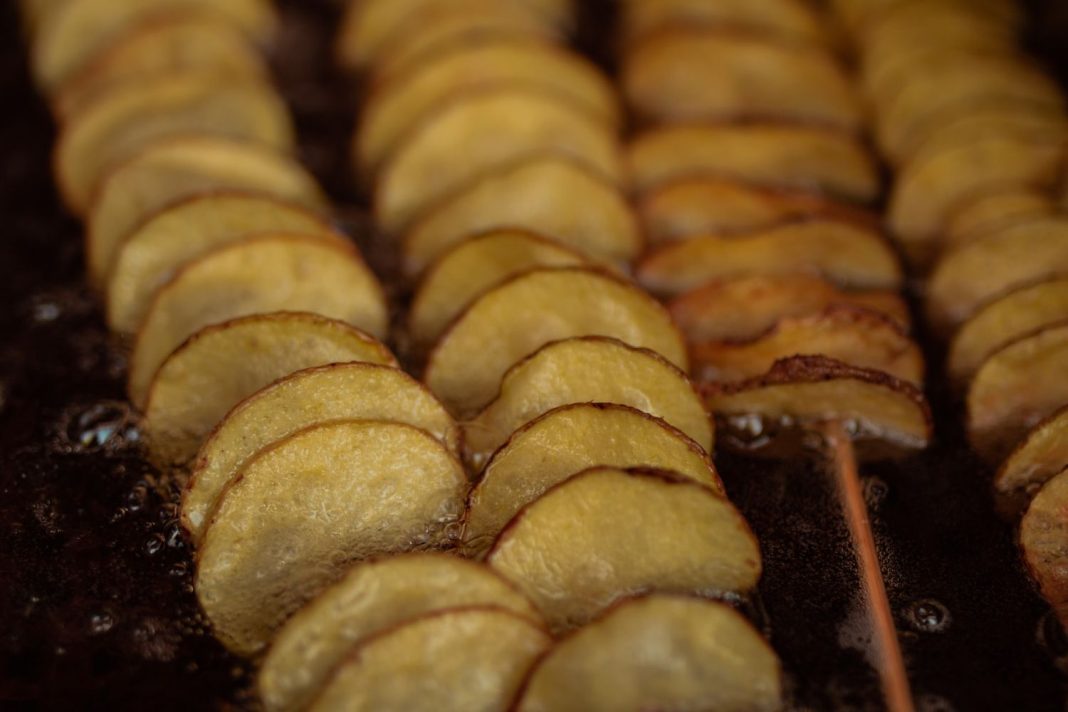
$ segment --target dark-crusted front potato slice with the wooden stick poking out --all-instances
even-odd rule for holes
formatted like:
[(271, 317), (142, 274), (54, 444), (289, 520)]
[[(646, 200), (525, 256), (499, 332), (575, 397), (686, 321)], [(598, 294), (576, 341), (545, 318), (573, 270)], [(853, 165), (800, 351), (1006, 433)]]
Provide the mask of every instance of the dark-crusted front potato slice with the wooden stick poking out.
[(846, 424), (858, 455), (878, 458), (927, 446), (931, 415), (916, 386), (819, 355), (782, 359), (741, 383), (707, 383), (705, 402), (721, 443), (745, 453), (796, 454), (791, 440), (828, 421)]

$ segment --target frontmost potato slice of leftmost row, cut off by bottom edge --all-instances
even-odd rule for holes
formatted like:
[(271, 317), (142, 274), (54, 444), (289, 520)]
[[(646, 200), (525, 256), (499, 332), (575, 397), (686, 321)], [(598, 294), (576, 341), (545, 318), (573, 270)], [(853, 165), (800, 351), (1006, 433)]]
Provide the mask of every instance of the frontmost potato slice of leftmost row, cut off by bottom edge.
[(309, 710), (505, 712), (552, 637), (492, 606), (417, 618), (358, 646)]

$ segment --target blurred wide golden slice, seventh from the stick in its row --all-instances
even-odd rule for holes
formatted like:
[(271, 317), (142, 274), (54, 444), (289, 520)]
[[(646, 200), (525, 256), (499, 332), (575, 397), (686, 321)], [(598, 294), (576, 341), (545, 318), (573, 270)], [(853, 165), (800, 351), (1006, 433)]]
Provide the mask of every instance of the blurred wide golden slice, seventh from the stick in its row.
[(674, 28), (624, 58), (623, 91), (646, 122), (775, 120), (861, 125), (860, 104), (818, 47), (754, 34)]

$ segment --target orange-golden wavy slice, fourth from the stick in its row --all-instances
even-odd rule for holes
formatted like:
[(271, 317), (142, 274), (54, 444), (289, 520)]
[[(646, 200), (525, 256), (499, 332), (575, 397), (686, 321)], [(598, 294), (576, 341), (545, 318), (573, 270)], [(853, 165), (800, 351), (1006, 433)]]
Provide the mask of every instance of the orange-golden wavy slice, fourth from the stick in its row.
[(876, 230), (842, 220), (810, 220), (738, 237), (705, 236), (665, 246), (638, 266), (638, 280), (660, 295), (742, 276), (821, 276), (851, 289), (897, 289), (901, 266)]

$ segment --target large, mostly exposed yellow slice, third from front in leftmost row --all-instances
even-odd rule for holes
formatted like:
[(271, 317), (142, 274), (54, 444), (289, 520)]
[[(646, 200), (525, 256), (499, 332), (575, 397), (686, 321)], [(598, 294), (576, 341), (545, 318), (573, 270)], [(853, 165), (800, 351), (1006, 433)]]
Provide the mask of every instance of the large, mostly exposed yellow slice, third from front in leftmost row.
[(449, 543), (467, 477), (399, 423), (339, 421), (269, 445), (219, 499), (197, 552), (197, 597), (236, 653), (263, 649), (350, 561)]

